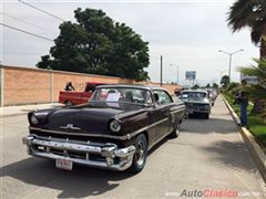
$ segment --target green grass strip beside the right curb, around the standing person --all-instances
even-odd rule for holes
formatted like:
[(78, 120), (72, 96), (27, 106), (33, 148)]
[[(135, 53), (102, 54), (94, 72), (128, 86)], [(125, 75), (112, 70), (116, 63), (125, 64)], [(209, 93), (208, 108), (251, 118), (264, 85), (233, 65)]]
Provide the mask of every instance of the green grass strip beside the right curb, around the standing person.
[[(235, 111), (235, 113), (239, 116), (239, 105), (234, 105), (234, 98), (228, 94), (223, 94), (225, 100), (229, 103), (232, 108)], [(247, 125), (249, 128), (249, 132), (256, 137), (257, 142), (262, 144), (264, 147), (266, 147), (266, 121), (264, 121), (258, 115), (250, 114), (250, 111), (253, 108), (252, 104), (248, 104), (247, 107)]]

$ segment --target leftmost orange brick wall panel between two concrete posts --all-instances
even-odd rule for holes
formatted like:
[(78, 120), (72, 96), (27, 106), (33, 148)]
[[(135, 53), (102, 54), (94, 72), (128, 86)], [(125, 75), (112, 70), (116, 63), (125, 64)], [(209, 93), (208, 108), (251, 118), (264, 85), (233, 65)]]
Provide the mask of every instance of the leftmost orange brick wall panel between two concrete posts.
[(48, 71), (4, 67), (3, 105), (50, 102)]

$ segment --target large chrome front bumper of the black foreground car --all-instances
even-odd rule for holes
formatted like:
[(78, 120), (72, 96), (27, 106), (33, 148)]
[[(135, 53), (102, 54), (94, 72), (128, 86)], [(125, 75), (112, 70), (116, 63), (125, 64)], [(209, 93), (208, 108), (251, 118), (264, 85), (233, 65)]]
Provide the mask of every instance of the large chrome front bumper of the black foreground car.
[[(68, 139), (43, 138), (37, 135), (29, 135), (22, 138), (28, 147), (28, 154), (32, 156), (62, 159), (68, 158), (74, 164), (90, 167), (106, 168), (112, 170), (125, 170), (132, 165), (135, 147), (117, 148), (115, 144), (106, 143), (95, 145), (90, 143), (73, 143)], [(55, 151), (55, 153), (54, 153)], [(57, 153), (61, 151), (61, 153)], [(73, 154), (83, 156), (74, 156)], [(91, 155), (98, 155), (101, 159), (91, 159)]]

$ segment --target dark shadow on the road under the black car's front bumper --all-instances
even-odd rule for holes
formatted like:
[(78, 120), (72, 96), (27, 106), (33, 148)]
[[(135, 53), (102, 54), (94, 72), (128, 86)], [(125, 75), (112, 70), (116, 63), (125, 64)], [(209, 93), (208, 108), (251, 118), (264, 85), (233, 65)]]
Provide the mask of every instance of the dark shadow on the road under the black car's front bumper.
[[(125, 171), (94, 169), (74, 165), (72, 171), (54, 168), (54, 161), (28, 158), (0, 169), (1, 177), (8, 176), (25, 184), (58, 189), (58, 198), (83, 198), (108, 192), (117, 186), (119, 180), (131, 177)], [(3, 184), (4, 186), (4, 184)]]

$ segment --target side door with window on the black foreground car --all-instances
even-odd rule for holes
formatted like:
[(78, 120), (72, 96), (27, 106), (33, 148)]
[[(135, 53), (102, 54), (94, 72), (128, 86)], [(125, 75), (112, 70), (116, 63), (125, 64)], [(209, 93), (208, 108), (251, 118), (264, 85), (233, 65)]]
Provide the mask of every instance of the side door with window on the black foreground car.
[(156, 138), (160, 139), (171, 129), (170, 104), (172, 103), (172, 98), (164, 90), (155, 90), (154, 94), (157, 95), (157, 105), (154, 107), (154, 113), (158, 122)]

